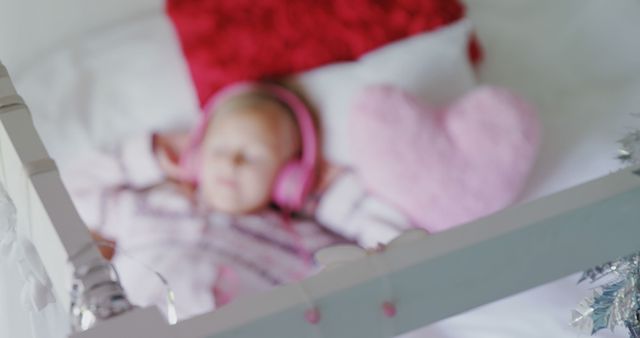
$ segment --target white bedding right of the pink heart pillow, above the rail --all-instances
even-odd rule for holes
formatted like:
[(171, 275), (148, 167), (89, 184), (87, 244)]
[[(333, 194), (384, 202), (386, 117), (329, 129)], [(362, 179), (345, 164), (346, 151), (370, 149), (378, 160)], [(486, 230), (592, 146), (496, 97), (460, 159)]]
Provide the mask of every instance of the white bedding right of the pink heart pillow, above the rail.
[(640, 2), (467, 1), (486, 48), (481, 81), (539, 109), (540, 158), (524, 199), (619, 167), (615, 142), (640, 126)]

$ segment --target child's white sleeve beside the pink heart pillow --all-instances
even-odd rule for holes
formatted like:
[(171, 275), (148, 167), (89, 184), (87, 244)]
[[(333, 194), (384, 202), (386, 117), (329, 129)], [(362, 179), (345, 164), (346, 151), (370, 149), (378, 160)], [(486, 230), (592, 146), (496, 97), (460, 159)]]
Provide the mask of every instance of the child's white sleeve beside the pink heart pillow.
[(315, 216), (327, 228), (365, 248), (387, 244), (411, 228), (404, 214), (368, 193), (353, 172), (342, 174), (320, 196)]

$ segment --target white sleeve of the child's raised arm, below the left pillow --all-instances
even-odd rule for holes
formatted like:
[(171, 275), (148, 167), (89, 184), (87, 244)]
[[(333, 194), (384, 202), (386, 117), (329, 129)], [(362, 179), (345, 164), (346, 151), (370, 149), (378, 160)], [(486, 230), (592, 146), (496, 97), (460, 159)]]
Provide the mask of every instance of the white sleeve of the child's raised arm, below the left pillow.
[(94, 229), (102, 223), (107, 197), (114, 196), (110, 192), (143, 189), (164, 179), (149, 134), (129, 139), (114, 151), (85, 154), (61, 165), (60, 173), (78, 213)]

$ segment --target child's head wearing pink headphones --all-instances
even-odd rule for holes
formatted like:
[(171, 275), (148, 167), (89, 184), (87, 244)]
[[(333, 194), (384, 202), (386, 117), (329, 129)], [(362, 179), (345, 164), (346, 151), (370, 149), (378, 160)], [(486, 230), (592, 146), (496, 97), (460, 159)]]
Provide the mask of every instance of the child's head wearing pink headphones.
[(182, 170), (217, 211), (252, 213), (270, 202), (299, 209), (317, 166), (316, 130), (302, 101), (280, 86), (241, 83), (217, 94), (205, 111), (181, 167), (170, 171)]

